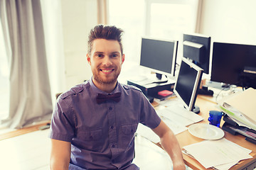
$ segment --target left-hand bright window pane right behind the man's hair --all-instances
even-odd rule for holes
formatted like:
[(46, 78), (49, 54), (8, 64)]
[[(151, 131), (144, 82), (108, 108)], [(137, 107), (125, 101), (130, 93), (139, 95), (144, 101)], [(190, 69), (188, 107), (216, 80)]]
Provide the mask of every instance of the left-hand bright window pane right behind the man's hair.
[(125, 60), (138, 63), (144, 34), (144, 0), (109, 0), (109, 21), (124, 30)]

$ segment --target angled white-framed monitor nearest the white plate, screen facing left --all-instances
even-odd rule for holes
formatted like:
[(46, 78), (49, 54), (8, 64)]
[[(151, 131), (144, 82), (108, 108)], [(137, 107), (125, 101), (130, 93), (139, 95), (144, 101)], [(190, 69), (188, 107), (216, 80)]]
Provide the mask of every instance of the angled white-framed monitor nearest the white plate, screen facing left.
[(203, 69), (193, 62), (182, 58), (178, 72), (178, 78), (174, 85), (174, 94), (181, 99), (183, 106), (188, 111), (199, 113), (200, 109), (195, 106), (198, 88), (201, 84)]

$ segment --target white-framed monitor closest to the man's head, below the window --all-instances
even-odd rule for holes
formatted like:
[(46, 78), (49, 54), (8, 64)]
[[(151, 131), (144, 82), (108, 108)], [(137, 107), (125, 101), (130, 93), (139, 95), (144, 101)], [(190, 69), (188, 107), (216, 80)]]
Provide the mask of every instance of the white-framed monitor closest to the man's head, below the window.
[(161, 82), (161, 75), (174, 77), (178, 41), (142, 38), (140, 65), (156, 72)]

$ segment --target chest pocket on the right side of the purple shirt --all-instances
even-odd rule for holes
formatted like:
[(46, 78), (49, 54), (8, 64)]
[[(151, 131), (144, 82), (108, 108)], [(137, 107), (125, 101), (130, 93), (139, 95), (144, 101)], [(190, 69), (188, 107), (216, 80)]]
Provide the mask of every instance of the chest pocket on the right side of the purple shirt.
[(121, 131), (122, 131), (122, 147), (124, 149), (128, 149), (129, 147), (132, 147), (134, 144), (134, 133), (137, 130), (138, 124), (131, 124), (131, 125), (122, 125)]

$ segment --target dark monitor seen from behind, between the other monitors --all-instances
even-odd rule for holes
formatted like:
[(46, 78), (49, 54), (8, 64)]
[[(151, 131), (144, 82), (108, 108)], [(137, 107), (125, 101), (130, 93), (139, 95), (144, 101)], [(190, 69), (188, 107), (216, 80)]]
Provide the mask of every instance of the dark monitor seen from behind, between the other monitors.
[(209, 74), (210, 37), (201, 34), (183, 34), (183, 57), (190, 59)]

